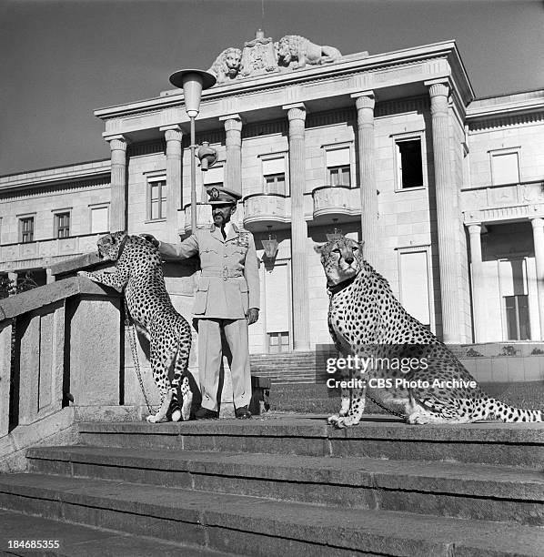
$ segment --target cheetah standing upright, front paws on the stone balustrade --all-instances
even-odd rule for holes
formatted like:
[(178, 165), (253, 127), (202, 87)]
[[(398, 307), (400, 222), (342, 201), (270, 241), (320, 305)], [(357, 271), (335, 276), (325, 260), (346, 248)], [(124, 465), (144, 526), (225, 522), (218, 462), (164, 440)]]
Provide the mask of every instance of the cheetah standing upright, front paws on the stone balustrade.
[[(99, 238), (98, 255), (116, 261), (115, 272), (77, 274), (119, 291), (125, 288), (126, 305), (136, 330), (149, 342), (153, 379), (161, 393), (161, 407), (147, 421), (157, 422), (172, 410), (172, 421), (189, 419), (193, 393), (187, 378), (191, 349), (191, 328), (172, 305), (166, 292), (165, 278), (158, 250), (146, 239), (125, 232)], [(174, 367), (173, 379), (168, 375)], [(182, 408), (177, 400), (181, 378)]]

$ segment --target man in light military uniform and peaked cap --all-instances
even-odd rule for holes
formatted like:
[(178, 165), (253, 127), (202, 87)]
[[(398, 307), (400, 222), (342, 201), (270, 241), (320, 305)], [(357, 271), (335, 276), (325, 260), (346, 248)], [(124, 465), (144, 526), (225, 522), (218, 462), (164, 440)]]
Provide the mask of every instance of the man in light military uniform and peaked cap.
[(226, 187), (208, 192), (214, 224), (197, 228), (181, 244), (155, 241), (166, 258), (200, 256), (202, 274), (198, 280), (193, 314), (198, 320), (198, 365), (202, 407), (196, 419), (218, 418), (217, 388), (222, 360), (221, 333), (232, 354), (230, 364), (236, 417), (251, 418), (251, 375), (247, 325), (258, 319), (259, 280), (253, 236), (230, 222), (241, 197)]

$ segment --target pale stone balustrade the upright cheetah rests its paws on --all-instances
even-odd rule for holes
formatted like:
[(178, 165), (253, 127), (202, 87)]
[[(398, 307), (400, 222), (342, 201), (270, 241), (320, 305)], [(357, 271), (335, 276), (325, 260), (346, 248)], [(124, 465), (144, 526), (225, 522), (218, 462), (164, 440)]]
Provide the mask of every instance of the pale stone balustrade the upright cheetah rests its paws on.
[(0, 300), (0, 470), (44, 439), (74, 441), (77, 420), (126, 419), (119, 309), (115, 290), (81, 278)]

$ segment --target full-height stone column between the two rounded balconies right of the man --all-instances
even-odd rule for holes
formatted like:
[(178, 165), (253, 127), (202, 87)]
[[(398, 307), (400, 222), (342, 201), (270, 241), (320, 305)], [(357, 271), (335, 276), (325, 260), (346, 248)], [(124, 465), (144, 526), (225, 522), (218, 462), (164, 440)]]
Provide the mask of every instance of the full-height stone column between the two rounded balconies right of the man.
[(293, 284), (293, 348), (309, 350), (307, 298), (307, 224), (304, 218), (306, 108), (287, 105), (289, 120), (289, 189), (291, 193), (291, 265)]

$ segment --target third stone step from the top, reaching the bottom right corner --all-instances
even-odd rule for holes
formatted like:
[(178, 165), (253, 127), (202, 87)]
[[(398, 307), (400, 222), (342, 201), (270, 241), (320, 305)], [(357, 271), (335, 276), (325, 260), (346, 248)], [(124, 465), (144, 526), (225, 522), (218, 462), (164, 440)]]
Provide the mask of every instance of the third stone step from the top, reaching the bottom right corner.
[(521, 524), (33, 473), (0, 475), (0, 508), (252, 556), (534, 557), (544, 546), (543, 529)]

